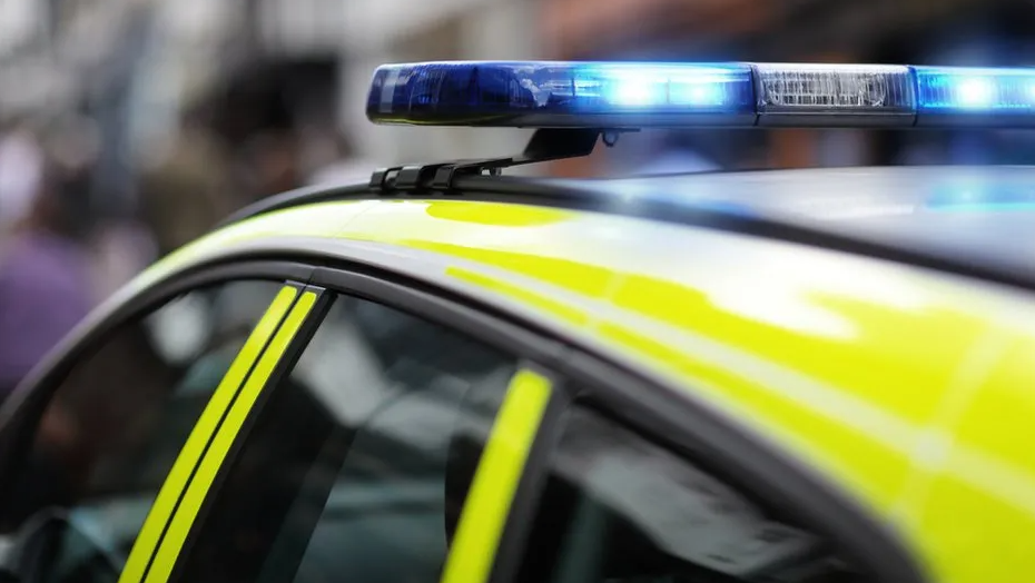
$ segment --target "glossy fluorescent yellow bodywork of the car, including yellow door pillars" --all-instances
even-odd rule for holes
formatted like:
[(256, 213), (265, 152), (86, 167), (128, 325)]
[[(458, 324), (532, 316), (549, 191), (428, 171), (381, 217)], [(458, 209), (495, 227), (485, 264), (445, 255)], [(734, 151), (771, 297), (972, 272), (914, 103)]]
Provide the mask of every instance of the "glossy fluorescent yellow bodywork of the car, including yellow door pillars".
[[(299, 197), (234, 221), (149, 268), (85, 329), (205, 266), (333, 259), (467, 298), (647, 379), (658, 387), (651, 398), (722, 419), (856, 505), (928, 581), (1019, 582), (1035, 570), (1035, 296), (1023, 286), (709, 224), (722, 210), (680, 223), (632, 213), (635, 200), (585, 209), (503, 195), (365, 191)], [(598, 199), (607, 197), (620, 199)], [(299, 289), (269, 307), (266, 329), (254, 333), (259, 339), (239, 353), (225, 384), (243, 383), (252, 367), (243, 392), (263, 389), (318, 302), (318, 286)], [(525, 369), (512, 384), (526, 386), (524, 402), (506, 409), (510, 425), (503, 413), (496, 425), (510, 448), (480, 466), (481, 498), (472, 494), (467, 505), (482, 510), (465, 514), (448, 583), (489, 579), (550, 391)], [(241, 403), (206, 409), (121, 583), (169, 581), (248, 416)], [(216, 445), (204, 447), (206, 436)]]

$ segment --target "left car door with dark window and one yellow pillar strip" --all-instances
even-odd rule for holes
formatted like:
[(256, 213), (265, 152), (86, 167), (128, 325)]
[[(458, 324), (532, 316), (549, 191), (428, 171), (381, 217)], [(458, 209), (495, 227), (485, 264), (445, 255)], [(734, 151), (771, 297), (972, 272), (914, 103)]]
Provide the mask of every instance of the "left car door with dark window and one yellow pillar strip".
[(134, 583), (254, 363), (304, 296), (273, 265), (176, 276), (83, 325), (3, 411), (0, 569)]

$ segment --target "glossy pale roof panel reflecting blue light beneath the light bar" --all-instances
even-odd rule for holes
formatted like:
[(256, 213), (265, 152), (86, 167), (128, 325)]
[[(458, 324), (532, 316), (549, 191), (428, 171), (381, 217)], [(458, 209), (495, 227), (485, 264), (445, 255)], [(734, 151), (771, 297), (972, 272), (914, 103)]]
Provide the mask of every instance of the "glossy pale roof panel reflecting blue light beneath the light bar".
[(1035, 280), (1035, 167), (860, 167), (549, 180), (988, 266)]

